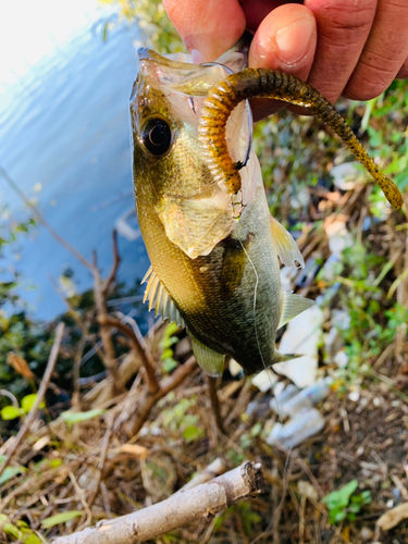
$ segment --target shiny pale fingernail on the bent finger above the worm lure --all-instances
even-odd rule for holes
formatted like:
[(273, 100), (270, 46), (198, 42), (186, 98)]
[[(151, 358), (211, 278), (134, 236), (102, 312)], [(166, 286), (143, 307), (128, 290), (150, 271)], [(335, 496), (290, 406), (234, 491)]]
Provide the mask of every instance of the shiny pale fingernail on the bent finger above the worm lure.
[(276, 55), (288, 66), (297, 64), (308, 52), (314, 33), (314, 21), (304, 17), (280, 28), (275, 34)]

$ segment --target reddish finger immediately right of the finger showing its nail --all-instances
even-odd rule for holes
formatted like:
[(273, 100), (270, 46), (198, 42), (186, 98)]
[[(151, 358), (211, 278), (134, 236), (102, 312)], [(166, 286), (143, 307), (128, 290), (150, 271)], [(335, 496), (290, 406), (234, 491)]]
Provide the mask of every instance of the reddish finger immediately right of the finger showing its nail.
[(373, 0), (305, 0), (318, 23), (319, 47), (308, 82), (331, 102), (343, 94), (375, 16)]

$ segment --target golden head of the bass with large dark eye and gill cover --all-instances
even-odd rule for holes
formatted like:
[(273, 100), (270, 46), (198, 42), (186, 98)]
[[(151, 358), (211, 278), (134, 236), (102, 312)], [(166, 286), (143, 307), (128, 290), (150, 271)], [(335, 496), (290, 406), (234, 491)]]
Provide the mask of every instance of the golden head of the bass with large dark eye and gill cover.
[[(237, 222), (234, 201), (213, 178), (197, 131), (203, 101), (225, 77), (225, 70), (219, 64), (195, 65), (189, 55), (162, 57), (148, 49), (140, 49), (138, 57), (131, 122), (134, 190), (141, 233), (143, 218), (156, 213), (168, 238), (189, 258), (209, 255)], [(230, 51), (219, 61), (237, 71), (245, 58)], [(227, 123), (233, 160), (245, 157), (248, 140), (247, 113), (245, 104), (240, 104)], [(249, 172), (245, 175), (250, 177)], [(246, 198), (249, 187), (250, 183), (243, 178)]]

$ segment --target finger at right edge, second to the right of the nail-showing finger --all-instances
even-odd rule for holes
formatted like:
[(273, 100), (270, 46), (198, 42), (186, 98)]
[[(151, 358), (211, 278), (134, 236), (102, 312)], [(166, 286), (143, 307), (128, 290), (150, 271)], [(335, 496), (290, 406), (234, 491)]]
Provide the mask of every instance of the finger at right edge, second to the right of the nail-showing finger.
[(380, 0), (370, 36), (344, 95), (371, 100), (392, 84), (408, 55), (408, 2)]

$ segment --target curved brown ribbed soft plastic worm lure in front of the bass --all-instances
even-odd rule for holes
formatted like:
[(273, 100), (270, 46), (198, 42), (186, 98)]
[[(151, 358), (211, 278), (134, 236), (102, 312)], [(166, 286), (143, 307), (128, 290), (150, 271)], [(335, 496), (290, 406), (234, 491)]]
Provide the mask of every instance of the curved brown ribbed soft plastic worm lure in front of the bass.
[(399, 210), (403, 196), (395, 183), (381, 173), (335, 108), (307, 83), (268, 69), (247, 69), (232, 74), (217, 85), (205, 101), (198, 132), (214, 180), (227, 193), (240, 189), (239, 163), (234, 164), (225, 141), (225, 125), (233, 109), (247, 98), (274, 98), (302, 106), (323, 121), (346, 144), (382, 188), (391, 205)]

